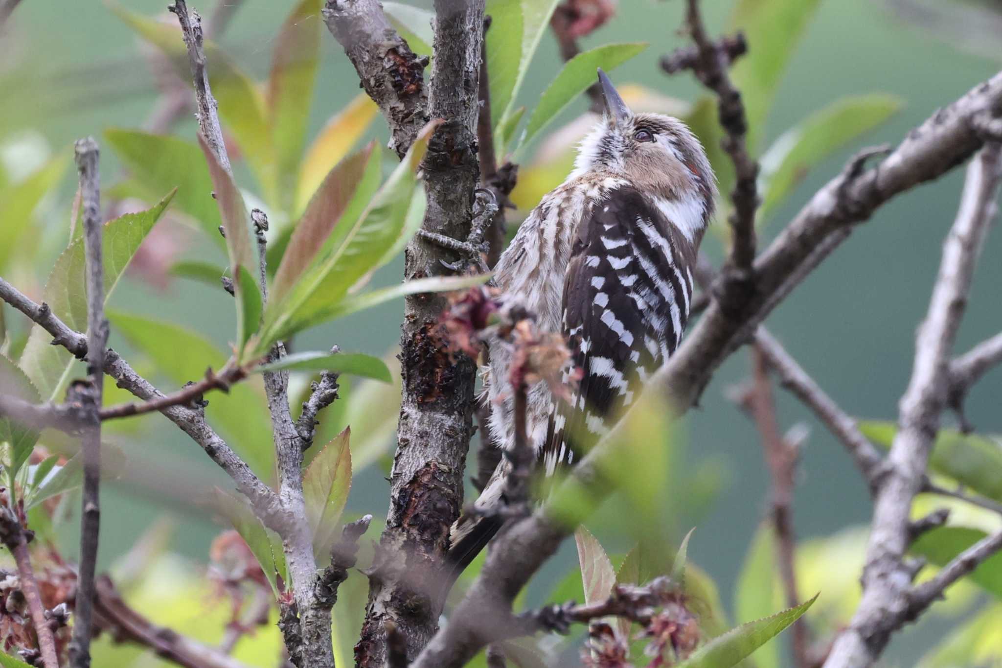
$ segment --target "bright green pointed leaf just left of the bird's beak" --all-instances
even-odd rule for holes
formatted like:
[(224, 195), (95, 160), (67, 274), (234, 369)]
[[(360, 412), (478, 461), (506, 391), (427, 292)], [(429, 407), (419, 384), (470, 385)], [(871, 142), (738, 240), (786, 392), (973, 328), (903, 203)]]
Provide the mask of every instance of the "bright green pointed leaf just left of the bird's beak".
[(601, 67), (610, 72), (647, 48), (646, 42), (605, 44), (577, 54), (566, 63), (556, 78), (543, 91), (539, 104), (532, 111), (525, 133), (518, 142), (524, 146), (546, 127), (557, 114), (566, 109), (574, 98), (595, 82), (595, 72)]

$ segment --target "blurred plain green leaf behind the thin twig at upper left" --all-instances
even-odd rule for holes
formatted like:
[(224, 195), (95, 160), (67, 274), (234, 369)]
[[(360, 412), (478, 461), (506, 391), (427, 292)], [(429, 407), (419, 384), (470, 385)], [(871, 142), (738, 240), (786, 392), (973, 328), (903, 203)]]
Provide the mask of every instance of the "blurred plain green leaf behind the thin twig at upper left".
[(174, 206), (190, 216), (220, 248), (219, 209), (212, 199), (212, 179), (198, 146), (177, 137), (149, 134), (139, 130), (109, 128), (104, 138), (132, 178), (145, 192), (175, 186)]

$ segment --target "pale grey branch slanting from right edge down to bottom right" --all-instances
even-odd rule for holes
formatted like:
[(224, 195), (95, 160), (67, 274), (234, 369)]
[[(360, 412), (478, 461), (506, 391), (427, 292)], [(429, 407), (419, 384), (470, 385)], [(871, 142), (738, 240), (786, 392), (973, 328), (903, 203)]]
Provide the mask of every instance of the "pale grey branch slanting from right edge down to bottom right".
[[(929, 452), (947, 402), (949, 356), (966, 305), (974, 265), (984, 241), (1002, 180), (1002, 148), (988, 144), (967, 169), (956, 220), (943, 244), (939, 275), (929, 310), (916, 337), (915, 362), (901, 399), (898, 432), (888, 456), (888, 475), (879, 484), (863, 598), (849, 628), (836, 640), (826, 668), (872, 665), (891, 634), (915, 619), (938, 593), (911, 590), (913, 569), (906, 563), (912, 500), (922, 489)], [(941, 572), (943, 587), (970, 571), (978, 559), (1002, 546), (1002, 537), (972, 548), (959, 565)], [(957, 564), (958, 562), (955, 562)], [(951, 565), (953, 566), (953, 565)], [(966, 570), (965, 570), (966, 569)], [(952, 579), (951, 579), (952, 578)], [(918, 594), (919, 591), (922, 594)]]

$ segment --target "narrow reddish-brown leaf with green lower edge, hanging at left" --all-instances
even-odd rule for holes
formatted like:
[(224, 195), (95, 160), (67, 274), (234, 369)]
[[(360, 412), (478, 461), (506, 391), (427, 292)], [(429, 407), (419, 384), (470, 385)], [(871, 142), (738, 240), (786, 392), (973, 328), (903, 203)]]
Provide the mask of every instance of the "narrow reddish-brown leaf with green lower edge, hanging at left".
[[(234, 276), (233, 288), (236, 296), (236, 358), (243, 362), (243, 345), (258, 330), (258, 319), (248, 320), (255, 312), (261, 313), (261, 290), (255, 275), (261, 270), (258, 255), (254, 250), (255, 240), (250, 232), (250, 216), (243, 204), (243, 196), (236, 188), (232, 175), (223, 169), (205, 138), (198, 135), (198, 145), (205, 155), (208, 173), (215, 188), (215, 202), (219, 206), (219, 216), (226, 234), (226, 249), (229, 251), (229, 275)], [(246, 279), (242, 273), (250, 275)]]

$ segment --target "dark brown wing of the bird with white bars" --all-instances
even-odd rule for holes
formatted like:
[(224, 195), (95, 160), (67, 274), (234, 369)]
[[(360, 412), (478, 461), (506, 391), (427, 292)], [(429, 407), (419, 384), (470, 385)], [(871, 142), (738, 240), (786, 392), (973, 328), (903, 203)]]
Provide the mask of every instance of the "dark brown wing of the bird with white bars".
[(632, 188), (613, 190), (581, 221), (564, 279), (563, 327), (583, 376), (573, 401), (557, 402), (550, 418), (547, 474), (607, 434), (678, 345), (692, 286), (669, 225)]

